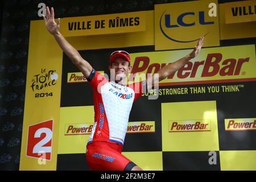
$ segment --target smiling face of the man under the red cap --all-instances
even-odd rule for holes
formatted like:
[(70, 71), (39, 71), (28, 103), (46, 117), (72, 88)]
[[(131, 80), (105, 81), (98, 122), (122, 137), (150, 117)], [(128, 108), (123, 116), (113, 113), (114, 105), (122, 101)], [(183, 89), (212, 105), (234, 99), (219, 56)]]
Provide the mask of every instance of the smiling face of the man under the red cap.
[(123, 57), (117, 57), (109, 66), (110, 74), (115, 76), (115, 80), (123, 80), (131, 72), (129, 62)]

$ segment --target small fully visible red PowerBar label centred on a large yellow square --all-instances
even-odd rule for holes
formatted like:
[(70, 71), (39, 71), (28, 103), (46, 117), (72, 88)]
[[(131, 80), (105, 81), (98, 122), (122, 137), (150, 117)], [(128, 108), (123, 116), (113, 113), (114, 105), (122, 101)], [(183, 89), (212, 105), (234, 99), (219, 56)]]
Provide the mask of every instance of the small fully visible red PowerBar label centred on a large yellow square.
[(169, 132), (210, 131), (209, 120), (169, 121)]

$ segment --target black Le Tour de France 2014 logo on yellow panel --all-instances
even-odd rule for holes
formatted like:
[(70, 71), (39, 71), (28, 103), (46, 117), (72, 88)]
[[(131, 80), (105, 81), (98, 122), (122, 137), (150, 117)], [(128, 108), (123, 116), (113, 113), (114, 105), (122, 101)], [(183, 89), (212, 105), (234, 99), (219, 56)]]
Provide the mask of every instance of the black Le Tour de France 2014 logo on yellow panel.
[(55, 70), (41, 69), (41, 72), (32, 78), (31, 89), (35, 93), (35, 97), (52, 97), (52, 92), (42, 92), (46, 88), (56, 85), (58, 74)]

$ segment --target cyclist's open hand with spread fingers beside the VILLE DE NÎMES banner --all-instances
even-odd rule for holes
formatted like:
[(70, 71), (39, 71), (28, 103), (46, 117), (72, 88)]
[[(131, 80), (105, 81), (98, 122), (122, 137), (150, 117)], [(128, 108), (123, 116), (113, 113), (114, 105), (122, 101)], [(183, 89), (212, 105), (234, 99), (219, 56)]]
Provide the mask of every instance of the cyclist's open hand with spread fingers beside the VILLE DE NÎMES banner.
[(46, 20), (46, 28), (50, 32), (50, 34), (55, 35), (59, 32), (60, 28), (60, 18), (58, 18), (57, 23), (54, 20), (54, 10), (51, 7), (51, 13), (49, 11), (49, 7), (46, 7), (46, 16), (43, 15), (44, 20)]

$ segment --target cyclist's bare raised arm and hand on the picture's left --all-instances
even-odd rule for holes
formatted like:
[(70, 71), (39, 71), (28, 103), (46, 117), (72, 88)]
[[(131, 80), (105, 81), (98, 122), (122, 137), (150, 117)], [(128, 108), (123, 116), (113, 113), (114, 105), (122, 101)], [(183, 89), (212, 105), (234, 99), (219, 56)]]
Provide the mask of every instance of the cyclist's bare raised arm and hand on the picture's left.
[(49, 8), (46, 7), (46, 16), (43, 15), (44, 20), (46, 20), (46, 28), (50, 34), (52, 34), (59, 44), (60, 48), (65, 52), (65, 54), (72, 60), (73, 64), (76, 65), (77, 68), (84, 74), (86, 78), (90, 76), (92, 72), (92, 66), (85, 61), (80, 53), (73, 47), (71, 44), (67, 42), (67, 40), (61, 35), (60, 28), (60, 19), (58, 19), (57, 23), (54, 20), (54, 10), (51, 7), (51, 13)]

